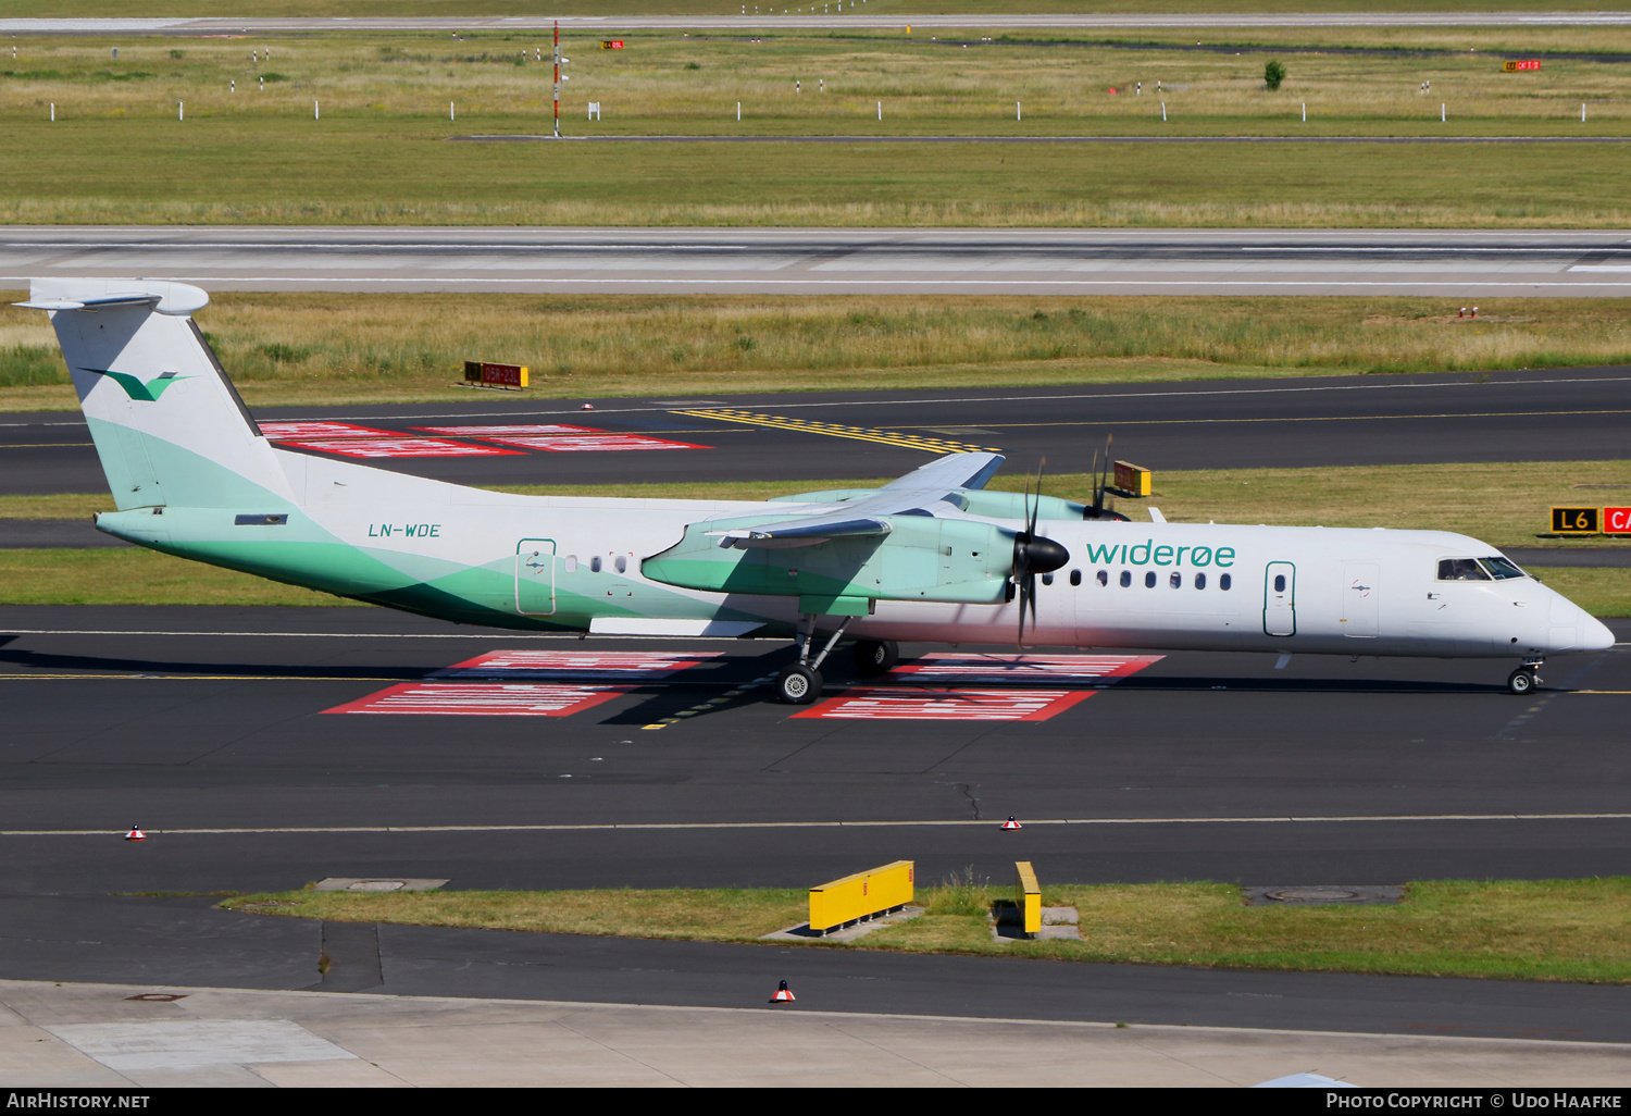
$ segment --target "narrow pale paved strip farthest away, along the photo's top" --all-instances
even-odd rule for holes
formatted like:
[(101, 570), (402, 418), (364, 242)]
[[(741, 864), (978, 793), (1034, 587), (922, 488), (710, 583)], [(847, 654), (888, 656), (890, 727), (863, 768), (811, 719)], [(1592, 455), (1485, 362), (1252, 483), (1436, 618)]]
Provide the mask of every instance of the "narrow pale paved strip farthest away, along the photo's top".
[[(812, 10), (814, 11), (814, 10)], [(321, 31), (550, 31), (556, 16), (295, 16), (246, 20), (188, 18), (36, 18), (0, 20), (0, 34), (274, 34)], [(864, 8), (843, 15), (785, 13), (776, 16), (584, 16), (563, 15), (568, 33), (678, 29), (900, 29), (907, 28), (1487, 28), (1487, 26), (1623, 26), (1626, 11), (1328, 11), (1328, 13), (1057, 13), (1057, 15), (873, 15)]]

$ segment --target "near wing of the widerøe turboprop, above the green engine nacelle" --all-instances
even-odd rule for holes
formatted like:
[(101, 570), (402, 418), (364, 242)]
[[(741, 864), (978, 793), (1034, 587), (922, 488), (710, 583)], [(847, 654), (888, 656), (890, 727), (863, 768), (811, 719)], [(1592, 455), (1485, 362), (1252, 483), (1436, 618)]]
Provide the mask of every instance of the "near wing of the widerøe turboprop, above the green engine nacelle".
[(948, 499), (957, 488), (983, 488), (1003, 463), (1001, 454), (949, 454), (879, 488), (814, 516), (776, 517), (729, 530), (711, 530), (731, 547), (811, 547), (829, 538), (887, 535), (891, 516), (936, 516), (961, 511)]

